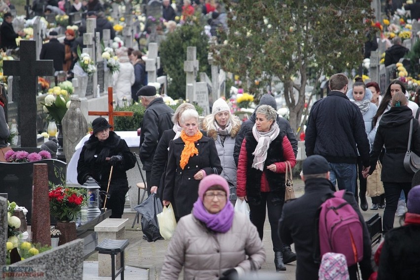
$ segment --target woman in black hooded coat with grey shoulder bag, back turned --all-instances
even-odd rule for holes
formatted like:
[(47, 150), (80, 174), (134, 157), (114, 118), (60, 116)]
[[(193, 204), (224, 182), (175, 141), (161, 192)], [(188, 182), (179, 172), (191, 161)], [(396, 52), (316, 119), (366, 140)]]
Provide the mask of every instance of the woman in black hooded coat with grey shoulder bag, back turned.
[[(392, 92), (391, 92), (392, 94)], [(413, 112), (407, 106), (404, 93), (398, 91), (393, 94), (391, 108), (385, 112), (379, 122), (372, 150), (370, 152), (370, 170), (363, 172), (363, 176), (371, 175), (376, 168), (378, 157), (385, 145), (385, 154), (382, 160), (381, 180), (385, 189), (385, 211), (383, 232), (386, 233), (394, 227), (394, 215), (397, 210), (398, 198), (401, 190), (408, 195), (414, 174), (404, 169), (404, 156), (407, 151), (410, 123)], [(420, 127), (418, 121), (413, 121), (413, 135), (411, 150), (420, 154)]]

